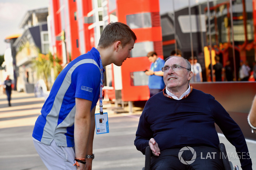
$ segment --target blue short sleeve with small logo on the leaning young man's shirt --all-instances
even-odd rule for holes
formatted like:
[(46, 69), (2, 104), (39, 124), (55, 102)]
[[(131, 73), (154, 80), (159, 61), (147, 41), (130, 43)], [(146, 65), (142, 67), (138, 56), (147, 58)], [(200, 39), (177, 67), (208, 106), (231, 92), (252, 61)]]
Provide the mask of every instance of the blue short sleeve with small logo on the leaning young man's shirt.
[(75, 97), (93, 101), (93, 97), (98, 95), (100, 90), (100, 76), (100, 69), (92, 63), (78, 66), (71, 78)]

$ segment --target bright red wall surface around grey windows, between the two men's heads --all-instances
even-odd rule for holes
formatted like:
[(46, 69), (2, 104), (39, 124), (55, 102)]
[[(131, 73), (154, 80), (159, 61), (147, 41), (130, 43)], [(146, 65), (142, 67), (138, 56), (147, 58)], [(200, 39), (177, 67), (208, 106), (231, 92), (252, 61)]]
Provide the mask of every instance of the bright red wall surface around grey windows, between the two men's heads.
[[(136, 5), (134, 5), (136, 4)], [(154, 42), (154, 50), (158, 55), (163, 55), (162, 29), (160, 26), (159, 1), (158, 0), (117, 0), (116, 13), (119, 22), (125, 23), (126, 16), (139, 13), (151, 13), (152, 27), (132, 29), (137, 36), (137, 42)], [(122, 100), (139, 101), (149, 99), (149, 89), (147, 85), (132, 86), (131, 73), (144, 71), (150, 68), (148, 57), (134, 57), (127, 59), (121, 66), (122, 71)]]

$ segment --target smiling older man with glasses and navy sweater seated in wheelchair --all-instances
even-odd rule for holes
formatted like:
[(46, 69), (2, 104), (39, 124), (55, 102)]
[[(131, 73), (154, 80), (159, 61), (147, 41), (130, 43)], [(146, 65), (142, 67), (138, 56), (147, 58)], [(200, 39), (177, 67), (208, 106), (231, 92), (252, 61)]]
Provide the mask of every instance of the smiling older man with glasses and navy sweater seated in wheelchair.
[(242, 169), (252, 170), (239, 126), (212, 95), (189, 85), (193, 72), (188, 60), (170, 56), (162, 71), (166, 88), (147, 101), (134, 141), (143, 154), (150, 147), (150, 169), (225, 169), (216, 123), (235, 146)]

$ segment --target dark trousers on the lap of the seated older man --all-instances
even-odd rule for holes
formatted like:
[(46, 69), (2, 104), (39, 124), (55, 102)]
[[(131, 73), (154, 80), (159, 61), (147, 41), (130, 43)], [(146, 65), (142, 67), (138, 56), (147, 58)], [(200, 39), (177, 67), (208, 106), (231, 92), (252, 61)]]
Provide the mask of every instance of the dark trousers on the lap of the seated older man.
[[(185, 147), (184, 147), (185, 148)], [(193, 146), (166, 149), (151, 158), (151, 170), (224, 170), (219, 149)], [(189, 150), (189, 148), (191, 150)], [(193, 152), (193, 153), (192, 153)]]

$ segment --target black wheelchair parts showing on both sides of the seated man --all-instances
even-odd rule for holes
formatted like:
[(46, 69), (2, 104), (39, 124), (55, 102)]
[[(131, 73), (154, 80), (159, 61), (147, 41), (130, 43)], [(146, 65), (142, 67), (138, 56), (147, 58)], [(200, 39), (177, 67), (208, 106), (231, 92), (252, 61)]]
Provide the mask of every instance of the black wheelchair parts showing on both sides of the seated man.
[[(225, 170), (239, 170), (239, 167), (237, 165), (233, 167), (232, 162), (228, 160), (226, 147), (223, 143), (219, 144), (219, 149), (220, 149), (220, 153), (222, 154), (222, 158), (223, 158), (222, 161), (223, 161)], [(150, 147), (148, 146), (146, 148), (146, 154), (145, 154), (145, 167), (143, 167), (142, 170), (150, 170), (151, 156), (152, 156), (152, 152)]]

